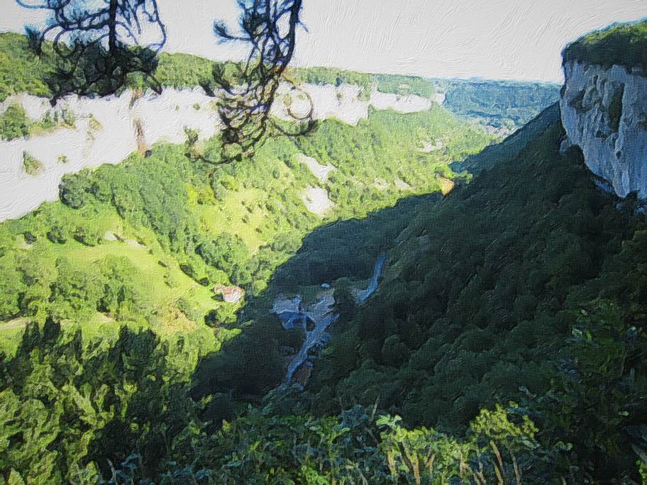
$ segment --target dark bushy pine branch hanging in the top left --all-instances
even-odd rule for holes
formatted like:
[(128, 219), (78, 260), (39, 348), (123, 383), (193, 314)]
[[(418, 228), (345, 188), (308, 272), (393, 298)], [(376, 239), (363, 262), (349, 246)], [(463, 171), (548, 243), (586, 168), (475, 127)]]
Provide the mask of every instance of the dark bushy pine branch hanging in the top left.
[(28, 9), (50, 11), (43, 30), (26, 28), (32, 47), (43, 51), (52, 40), (55, 69), (47, 79), (52, 102), (61, 96), (106, 96), (143, 75), (160, 92), (153, 77), (157, 52), (166, 42), (156, 0), (16, 0)]

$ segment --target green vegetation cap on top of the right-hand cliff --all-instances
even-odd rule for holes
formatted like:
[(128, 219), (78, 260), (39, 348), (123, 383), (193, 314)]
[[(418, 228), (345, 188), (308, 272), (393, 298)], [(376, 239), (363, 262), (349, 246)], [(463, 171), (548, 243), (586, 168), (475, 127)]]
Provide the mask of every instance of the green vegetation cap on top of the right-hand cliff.
[(611, 26), (569, 44), (564, 62), (585, 62), (602, 67), (613, 65), (647, 70), (647, 21)]

